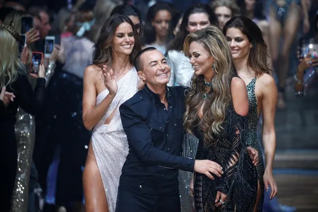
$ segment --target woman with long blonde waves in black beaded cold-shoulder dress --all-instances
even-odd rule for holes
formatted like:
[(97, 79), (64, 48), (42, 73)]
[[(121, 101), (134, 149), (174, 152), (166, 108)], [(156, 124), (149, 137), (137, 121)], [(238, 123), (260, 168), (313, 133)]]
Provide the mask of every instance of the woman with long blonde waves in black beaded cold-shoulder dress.
[(199, 138), (196, 159), (212, 160), (224, 172), (214, 180), (195, 173), (196, 212), (252, 212), (257, 173), (245, 144), (244, 81), (235, 77), (229, 47), (217, 27), (189, 34), (184, 51), (195, 70), (186, 98), (185, 129)]

